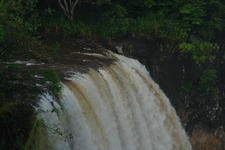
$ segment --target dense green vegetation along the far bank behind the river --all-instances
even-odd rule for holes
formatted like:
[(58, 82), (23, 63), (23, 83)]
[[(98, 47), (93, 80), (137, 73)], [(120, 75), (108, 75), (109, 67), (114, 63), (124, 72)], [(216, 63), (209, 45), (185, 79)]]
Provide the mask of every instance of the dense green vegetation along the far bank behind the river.
[(62, 16), (64, 11), (53, 0), (38, 2), (38, 6), (51, 10), (41, 17), (43, 29), (65, 36), (115, 39), (131, 32), (185, 42), (192, 33), (203, 40), (213, 39), (214, 32), (224, 27), (221, 0), (79, 0), (72, 18)]

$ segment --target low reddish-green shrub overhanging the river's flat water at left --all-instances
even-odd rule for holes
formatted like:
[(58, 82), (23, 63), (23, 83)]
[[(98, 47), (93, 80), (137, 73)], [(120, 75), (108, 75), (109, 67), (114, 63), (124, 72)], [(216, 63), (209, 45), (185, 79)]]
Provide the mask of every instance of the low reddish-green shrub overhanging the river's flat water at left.
[(52, 56), (56, 56), (58, 49), (58, 45), (48, 46), (36, 38), (20, 33), (7, 33), (6, 43), (9, 46), (0, 54), (0, 59), (2, 57), (3, 61), (16, 57), (32, 58), (39, 61), (49, 59), (48, 61), (50, 61)]

